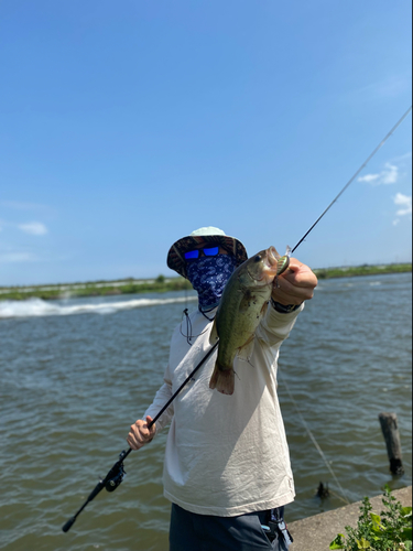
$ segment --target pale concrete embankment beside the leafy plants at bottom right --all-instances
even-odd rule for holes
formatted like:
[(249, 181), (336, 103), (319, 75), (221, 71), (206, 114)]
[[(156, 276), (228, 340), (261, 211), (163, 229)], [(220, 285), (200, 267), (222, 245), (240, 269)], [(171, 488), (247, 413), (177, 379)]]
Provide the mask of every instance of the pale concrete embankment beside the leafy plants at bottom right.
[[(412, 505), (412, 486), (392, 491), (392, 495), (404, 506)], [(382, 510), (382, 496), (370, 499), (373, 511)], [(360, 515), (361, 501), (340, 507), (333, 511), (323, 512), (296, 520), (289, 525), (289, 530), (294, 538), (294, 543), (289, 551), (328, 551), (328, 545), (337, 536), (345, 533), (345, 527), (356, 528)]]

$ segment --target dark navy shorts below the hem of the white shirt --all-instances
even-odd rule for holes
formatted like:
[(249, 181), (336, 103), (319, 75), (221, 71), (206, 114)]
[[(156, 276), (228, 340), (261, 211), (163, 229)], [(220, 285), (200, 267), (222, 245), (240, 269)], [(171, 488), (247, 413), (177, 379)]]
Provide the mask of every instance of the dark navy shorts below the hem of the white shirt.
[[(280, 515), (282, 518), (282, 515)], [(271, 542), (265, 534), (268, 511), (238, 517), (214, 517), (172, 505), (170, 551), (287, 551), (281, 531)]]

